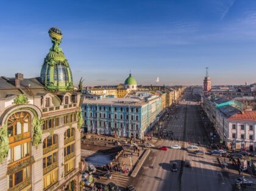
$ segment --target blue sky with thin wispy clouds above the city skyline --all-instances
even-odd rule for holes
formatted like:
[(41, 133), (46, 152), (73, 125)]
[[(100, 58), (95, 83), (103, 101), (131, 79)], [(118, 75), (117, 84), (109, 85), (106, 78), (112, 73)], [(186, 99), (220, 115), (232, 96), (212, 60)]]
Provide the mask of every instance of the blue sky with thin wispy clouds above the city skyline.
[[(3, 1), (0, 76), (39, 77), (51, 47), (60, 46), (74, 84), (213, 85), (256, 82), (255, 0)], [(159, 82), (157, 82), (157, 78)]]

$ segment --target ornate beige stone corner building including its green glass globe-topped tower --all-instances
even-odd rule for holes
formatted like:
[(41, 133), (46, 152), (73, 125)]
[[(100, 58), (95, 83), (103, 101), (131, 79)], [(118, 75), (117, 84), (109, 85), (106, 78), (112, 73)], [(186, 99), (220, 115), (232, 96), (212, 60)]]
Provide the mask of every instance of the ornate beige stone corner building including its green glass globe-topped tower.
[(62, 32), (49, 36), (40, 77), (0, 77), (0, 190), (79, 190), (80, 92)]

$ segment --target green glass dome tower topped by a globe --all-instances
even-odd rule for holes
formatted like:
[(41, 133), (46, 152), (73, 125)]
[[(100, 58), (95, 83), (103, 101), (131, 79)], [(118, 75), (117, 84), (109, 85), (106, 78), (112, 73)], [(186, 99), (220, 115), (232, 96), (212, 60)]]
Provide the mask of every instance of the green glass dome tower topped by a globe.
[(40, 80), (48, 91), (73, 91), (73, 79), (68, 60), (59, 44), (62, 42), (62, 31), (52, 27), (48, 31), (52, 47), (44, 58)]

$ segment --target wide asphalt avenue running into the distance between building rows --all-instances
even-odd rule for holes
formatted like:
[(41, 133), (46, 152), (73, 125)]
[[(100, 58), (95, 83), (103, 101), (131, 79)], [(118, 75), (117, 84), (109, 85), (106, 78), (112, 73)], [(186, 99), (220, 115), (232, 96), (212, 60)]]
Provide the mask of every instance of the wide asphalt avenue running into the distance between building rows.
[[(224, 172), (215, 156), (194, 155), (185, 150), (190, 144), (203, 144), (205, 130), (202, 127), (201, 117), (195, 102), (180, 102), (174, 117), (167, 123), (166, 130), (174, 132), (174, 140), (162, 139), (155, 147), (178, 144), (181, 150), (168, 149), (167, 151), (153, 148), (136, 178), (130, 184), (137, 190), (233, 190), (233, 183), (238, 175)], [(179, 138), (179, 142), (177, 141)], [(199, 147), (208, 153), (207, 147)], [(185, 167), (186, 159), (192, 162), (192, 167)], [(177, 172), (171, 172), (171, 163), (178, 163)], [(253, 189), (253, 188), (252, 188)], [(247, 189), (249, 190), (249, 189)]]

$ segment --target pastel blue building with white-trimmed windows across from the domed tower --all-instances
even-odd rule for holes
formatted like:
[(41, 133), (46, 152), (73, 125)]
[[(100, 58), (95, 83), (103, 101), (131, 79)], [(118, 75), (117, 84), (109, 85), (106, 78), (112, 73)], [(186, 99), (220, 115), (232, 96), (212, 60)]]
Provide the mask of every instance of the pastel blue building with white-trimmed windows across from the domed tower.
[(84, 95), (85, 131), (142, 139), (158, 121), (161, 97), (137, 92), (127, 98)]

